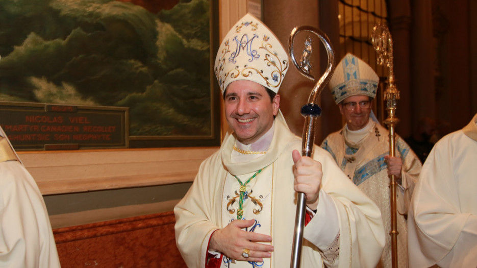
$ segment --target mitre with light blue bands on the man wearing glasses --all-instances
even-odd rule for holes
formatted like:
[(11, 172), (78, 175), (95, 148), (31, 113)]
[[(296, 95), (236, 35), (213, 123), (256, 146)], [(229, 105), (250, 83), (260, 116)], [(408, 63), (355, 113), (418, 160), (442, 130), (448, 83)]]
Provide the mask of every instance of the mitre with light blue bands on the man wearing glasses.
[(378, 83), (376, 72), (366, 62), (348, 53), (336, 66), (329, 85), (336, 104), (339, 104), (354, 95), (366, 95), (374, 99)]

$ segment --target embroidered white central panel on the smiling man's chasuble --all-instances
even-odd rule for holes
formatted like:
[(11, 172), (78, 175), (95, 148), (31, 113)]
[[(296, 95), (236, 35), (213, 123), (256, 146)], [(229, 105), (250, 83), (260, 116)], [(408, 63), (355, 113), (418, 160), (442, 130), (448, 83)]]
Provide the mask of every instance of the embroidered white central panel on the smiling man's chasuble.
[[(236, 221), (238, 214), (241, 214), (242, 220), (255, 220), (255, 224), (252, 227), (246, 228), (246, 231), (272, 236), (273, 165), (267, 166), (256, 177), (246, 183), (255, 173), (237, 176), (241, 183), (238, 182), (234, 175), (227, 174), (222, 192), (221, 228), (229, 225), (232, 221)], [(243, 185), (245, 183), (246, 185)], [(244, 191), (241, 206), (243, 212), (240, 212), (240, 189)], [(263, 263), (250, 263), (246, 261), (232, 263), (230, 259), (223, 257), (221, 267), (272, 267), (272, 259), (273, 254), (272, 258), (264, 258)]]

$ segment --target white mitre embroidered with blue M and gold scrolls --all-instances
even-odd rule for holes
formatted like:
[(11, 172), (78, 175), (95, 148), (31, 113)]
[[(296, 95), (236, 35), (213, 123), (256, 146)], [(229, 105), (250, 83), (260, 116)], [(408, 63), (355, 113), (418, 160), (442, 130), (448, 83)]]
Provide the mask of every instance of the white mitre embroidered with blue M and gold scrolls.
[(288, 70), (288, 54), (258, 18), (243, 16), (220, 44), (214, 65), (222, 94), (235, 80), (249, 80), (278, 92)]

